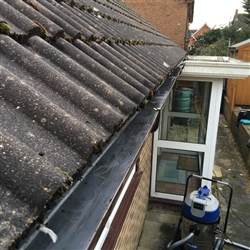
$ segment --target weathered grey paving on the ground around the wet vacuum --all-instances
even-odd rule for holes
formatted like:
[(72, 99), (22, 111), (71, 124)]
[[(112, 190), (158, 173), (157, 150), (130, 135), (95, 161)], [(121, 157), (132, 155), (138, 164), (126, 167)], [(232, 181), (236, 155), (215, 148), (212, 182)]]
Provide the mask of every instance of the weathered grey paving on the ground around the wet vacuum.
[[(250, 150), (250, 149), (249, 149)], [(229, 241), (250, 247), (250, 175), (223, 115), (220, 115), (213, 178), (233, 189), (226, 236)], [(214, 195), (221, 207), (220, 228), (225, 226), (230, 189), (217, 185)], [(150, 203), (137, 250), (163, 250), (173, 238), (180, 218), (180, 207)], [(239, 249), (225, 245), (224, 250)]]

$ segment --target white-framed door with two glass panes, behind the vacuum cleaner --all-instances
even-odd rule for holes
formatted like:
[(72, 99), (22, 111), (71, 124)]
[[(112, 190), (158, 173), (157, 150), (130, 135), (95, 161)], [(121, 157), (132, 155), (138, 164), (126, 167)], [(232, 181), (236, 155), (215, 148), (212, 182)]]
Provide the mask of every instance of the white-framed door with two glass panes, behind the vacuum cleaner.
[[(151, 196), (182, 201), (187, 177), (212, 178), (222, 80), (178, 79), (154, 133)], [(189, 190), (201, 185), (192, 178)]]

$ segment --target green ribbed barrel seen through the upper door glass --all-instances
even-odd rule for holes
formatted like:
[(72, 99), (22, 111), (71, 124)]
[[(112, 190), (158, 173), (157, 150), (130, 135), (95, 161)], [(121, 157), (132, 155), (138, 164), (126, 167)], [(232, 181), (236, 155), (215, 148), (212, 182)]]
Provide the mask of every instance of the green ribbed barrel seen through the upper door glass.
[(191, 103), (191, 91), (187, 88), (176, 89), (174, 92), (173, 110), (177, 112), (189, 112)]

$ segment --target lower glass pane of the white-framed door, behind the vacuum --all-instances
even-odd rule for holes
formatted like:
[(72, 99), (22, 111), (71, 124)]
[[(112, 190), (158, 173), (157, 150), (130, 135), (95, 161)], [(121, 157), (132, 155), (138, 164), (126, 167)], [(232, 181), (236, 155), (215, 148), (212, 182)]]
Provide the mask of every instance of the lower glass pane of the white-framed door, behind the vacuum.
[[(158, 149), (156, 168), (156, 192), (184, 195), (187, 177), (200, 175), (203, 153), (177, 149)], [(200, 187), (200, 180), (192, 178), (188, 192)]]

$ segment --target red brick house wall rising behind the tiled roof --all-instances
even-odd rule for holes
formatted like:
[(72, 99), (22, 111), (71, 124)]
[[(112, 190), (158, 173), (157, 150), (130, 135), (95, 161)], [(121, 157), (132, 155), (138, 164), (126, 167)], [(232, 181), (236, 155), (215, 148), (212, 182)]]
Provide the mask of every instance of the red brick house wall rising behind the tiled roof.
[(124, 0), (134, 11), (182, 48), (189, 27), (187, 0)]

